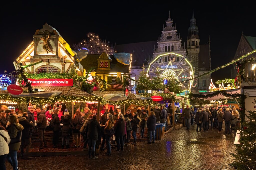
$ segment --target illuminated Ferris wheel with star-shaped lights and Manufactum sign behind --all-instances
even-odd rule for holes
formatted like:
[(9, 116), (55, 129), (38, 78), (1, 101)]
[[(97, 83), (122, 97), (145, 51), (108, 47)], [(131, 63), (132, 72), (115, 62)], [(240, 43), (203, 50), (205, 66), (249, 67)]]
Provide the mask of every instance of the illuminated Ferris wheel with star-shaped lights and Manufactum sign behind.
[(190, 90), (193, 80), (183, 82), (184, 80), (194, 78), (194, 68), (189, 61), (182, 55), (175, 53), (166, 53), (157, 56), (148, 66), (147, 74), (156, 76), (160, 73), (163, 80), (170, 77), (180, 82), (177, 85), (183, 90)]

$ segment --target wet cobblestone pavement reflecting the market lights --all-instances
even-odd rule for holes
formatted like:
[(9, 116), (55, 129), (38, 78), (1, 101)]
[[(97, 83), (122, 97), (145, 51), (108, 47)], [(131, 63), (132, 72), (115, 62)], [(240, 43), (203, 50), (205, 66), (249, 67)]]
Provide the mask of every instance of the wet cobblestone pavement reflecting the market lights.
[[(20, 160), (21, 170), (48, 169), (233, 169), (229, 166), (235, 153), (235, 134), (218, 134), (217, 129), (209, 132), (190, 131), (185, 127), (165, 134), (164, 140), (154, 144), (138, 142), (125, 147), (124, 152), (112, 150), (111, 156), (102, 153), (97, 160), (87, 156), (48, 156), (32, 160)], [(225, 128), (223, 126), (223, 128)], [(7, 169), (12, 169), (6, 162)]]

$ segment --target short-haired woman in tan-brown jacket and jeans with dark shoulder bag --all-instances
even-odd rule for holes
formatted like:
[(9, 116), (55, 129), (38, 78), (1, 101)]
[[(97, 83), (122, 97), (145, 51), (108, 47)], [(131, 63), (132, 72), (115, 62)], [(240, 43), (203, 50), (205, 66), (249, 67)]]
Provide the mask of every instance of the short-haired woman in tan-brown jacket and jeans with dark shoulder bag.
[(105, 124), (105, 128), (104, 128), (104, 135), (106, 136), (106, 145), (107, 145), (107, 153), (106, 155), (111, 155), (111, 146), (110, 146), (110, 139), (112, 136), (109, 136), (107, 134), (107, 131), (112, 129), (112, 127), (114, 126), (114, 120), (113, 120), (113, 115), (111, 113), (107, 114), (107, 122)]

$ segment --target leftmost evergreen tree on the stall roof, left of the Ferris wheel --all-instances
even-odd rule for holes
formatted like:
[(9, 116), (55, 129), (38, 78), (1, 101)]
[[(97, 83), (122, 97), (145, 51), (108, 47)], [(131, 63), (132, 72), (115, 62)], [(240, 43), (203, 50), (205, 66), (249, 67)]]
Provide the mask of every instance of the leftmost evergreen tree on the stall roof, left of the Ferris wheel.
[(148, 74), (145, 71), (144, 65), (142, 66), (142, 71), (140, 72), (140, 76), (136, 82), (136, 90), (151, 90), (151, 82), (149, 80)]

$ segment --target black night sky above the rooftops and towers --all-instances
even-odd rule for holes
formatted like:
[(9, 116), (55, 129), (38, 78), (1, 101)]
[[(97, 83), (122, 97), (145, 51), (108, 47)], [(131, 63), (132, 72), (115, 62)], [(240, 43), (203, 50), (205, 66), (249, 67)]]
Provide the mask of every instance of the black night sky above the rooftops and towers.
[[(101, 39), (113, 44), (125, 44), (157, 40), (170, 10), (171, 19), (176, 23), (182, 41), (185, 41), (194, 9), (200, 44), (207, 43), (210, 35), (212, 69), (232, 61), (242, 31), (244, 35), (256, 36), (255, 4), (251, 3), (246, 6), (234, 1), (227, 5), (222, 4), (223, 1), (209, 4), (198, 1), (70, 2), (14, 4), (9, 1), (7, 5), (2, 5), (0, 74), (4, 70), (14, 70), (13, 61), (33, 40), (35, 31), (46, 22), (57, 29), (70, 46), (81, 41), (87, 32), (98, 33)], [(214, 82), (229, 78), (230, 69), (213, 73)]]

